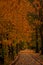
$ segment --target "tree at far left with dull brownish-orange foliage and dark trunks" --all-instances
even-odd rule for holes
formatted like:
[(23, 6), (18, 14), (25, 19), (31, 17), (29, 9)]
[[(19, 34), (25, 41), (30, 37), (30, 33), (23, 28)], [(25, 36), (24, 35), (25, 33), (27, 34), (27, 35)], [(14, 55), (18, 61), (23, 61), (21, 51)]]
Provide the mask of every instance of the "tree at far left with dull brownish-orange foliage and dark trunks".
[[(15, 26), (13, 23), (11, 23), (10, 20), (6, 20), (3, 17), (0, 17), (0, 42), (2, 44), (2, 48), (1, 48), (1, 61), (7, 64), (6, 59), (8, 59), (8, 44), (12, 42), (12, 39), (14, 39), (12, 37), (12, 35), (14, 35), (15, 33)], [(10, 42), (9, 42), (10, 40)], [(10, 46), (10, 45), (9, 45)], [(14, 47), (11, 46), (11, 54), (12, 55), (12, 59), (14, 59)], [(9, 58), (10, 59), (10, 58)], [(5, 60), (5, 61), (4, 61)], [(8, 61), (9, 62), (9, 61)]]

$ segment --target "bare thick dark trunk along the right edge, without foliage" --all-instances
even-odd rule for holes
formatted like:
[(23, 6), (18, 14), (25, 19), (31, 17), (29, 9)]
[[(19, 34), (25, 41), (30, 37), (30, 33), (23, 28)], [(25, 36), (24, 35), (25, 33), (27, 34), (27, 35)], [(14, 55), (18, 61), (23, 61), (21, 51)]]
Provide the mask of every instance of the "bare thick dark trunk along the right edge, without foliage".
[(39, 18), (41, 21), (40, 35), (41, 35), (41, 54), (43, 55), (43, 0), (40, 0)]

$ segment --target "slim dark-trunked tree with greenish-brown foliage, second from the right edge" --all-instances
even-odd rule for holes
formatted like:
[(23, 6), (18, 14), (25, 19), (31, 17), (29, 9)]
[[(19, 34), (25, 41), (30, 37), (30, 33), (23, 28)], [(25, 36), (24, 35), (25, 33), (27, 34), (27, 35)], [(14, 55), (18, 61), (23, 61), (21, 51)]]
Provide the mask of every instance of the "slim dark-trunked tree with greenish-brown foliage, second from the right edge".
[[(32, 26), (33, 30), (35, 30), (36, 33), (36, 53), (39, 52), (38, 50), (38, 26), (35, 22), (35, 20), (38, 18), (36, 14), (28, 12), (27, 14), (27, 20), (29, 21), (30, 25)], [(36, 19), (35, 19), (36, 18)], [(37, 20), (36, 20), (37, 21)]]

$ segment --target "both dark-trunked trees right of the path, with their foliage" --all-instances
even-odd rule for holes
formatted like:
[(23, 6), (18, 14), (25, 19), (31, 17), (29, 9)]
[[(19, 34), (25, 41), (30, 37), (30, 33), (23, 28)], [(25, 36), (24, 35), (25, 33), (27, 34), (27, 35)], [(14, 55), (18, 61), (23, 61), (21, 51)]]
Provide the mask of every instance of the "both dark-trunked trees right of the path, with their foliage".
[[(35, 29), (36, 29), (36, 38), (38, 39), (38, 33), (37, 33), (37, 29), (39, 28), (39, 30), (40, 30), (40, 36), (41, 36), (41, 54), (43, 54), (43, 0), (37, 0), (37, 1), (35, 1), (35, 0), (28, 0), (31, 4), (32, 4), (32, 6), (33, 6), (33, 8), (35, 9), (35, 12), (33, 13), (33, 12), (29, 12), (28, 13), (28, 16), (27, 17), (30, 17), (30, 18), (28, 18), (28, 21), (30, 21), (30, 23), (33, 25), (34, 23), (34, 25), (35, 25)], [(36, 23), (37, 23), (37, 20), (38, 21), (40, 21), (37, 25), (36, 25)], [(33, 23), (34, 22), (34, 23)], [(38, 27), (37, 27), (38, 26)], [(37, 41), (37, 39), (36, 39), (36, 41)], [(38, 50), (38, 41), (36, 42), (36, 52), (38, 52), (37, 50)]]

